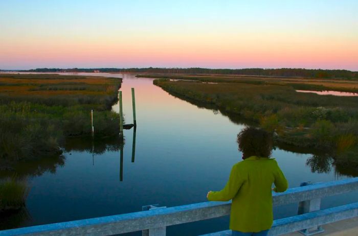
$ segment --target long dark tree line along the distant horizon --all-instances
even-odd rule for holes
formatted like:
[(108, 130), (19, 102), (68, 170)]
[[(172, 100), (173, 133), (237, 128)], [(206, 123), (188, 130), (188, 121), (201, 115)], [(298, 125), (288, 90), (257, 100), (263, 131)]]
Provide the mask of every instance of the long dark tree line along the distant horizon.
[(311, 78), (346, 78), (358, 79), (358, 72), (345, 69), (303, 69), (303, 68), (246, 68), (246, 69), (210, 69), (210, 68), (37, 68), (24, 72), (124, 72), (124, 73), (162, 73), (162, 74), (217, 74), (217, 75), (248, 75), (273, 77), (311, 77)]

